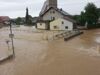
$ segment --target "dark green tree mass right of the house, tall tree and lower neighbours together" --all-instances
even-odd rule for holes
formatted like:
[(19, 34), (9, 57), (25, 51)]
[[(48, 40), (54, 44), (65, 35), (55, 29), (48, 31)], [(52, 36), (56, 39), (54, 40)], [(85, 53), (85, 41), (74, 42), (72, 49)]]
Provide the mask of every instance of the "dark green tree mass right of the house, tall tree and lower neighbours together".
[(80, 15), (75, 15), (73, 18), (81, 26), (87, 25), (88, 28), (98, 27), (98, 19), (100, 16), (100, 10), (93, 3), (88, 3), (87, 6)]

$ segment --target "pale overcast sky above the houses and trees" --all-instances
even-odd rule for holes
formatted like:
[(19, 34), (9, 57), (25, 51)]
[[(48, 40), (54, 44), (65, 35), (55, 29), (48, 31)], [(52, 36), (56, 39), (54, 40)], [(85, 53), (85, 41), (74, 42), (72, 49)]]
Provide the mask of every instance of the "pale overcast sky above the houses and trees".
[[(29, 14), (38, 16), (45, 0), (0, 0), (0, 16), (11, 18), (25, 16), (26, 7)], [(79, 14), (88, 2), (93, 2), (100, 8), (100, 0), (58, 0), (58, 7), (70, 14)]]

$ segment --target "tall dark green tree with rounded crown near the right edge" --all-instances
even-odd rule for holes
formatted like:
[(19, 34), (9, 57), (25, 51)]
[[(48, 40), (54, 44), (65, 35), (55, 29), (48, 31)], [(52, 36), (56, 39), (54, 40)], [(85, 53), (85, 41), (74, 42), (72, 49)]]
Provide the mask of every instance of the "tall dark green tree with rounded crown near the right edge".
[(85, 7), (85, 17), (89, 25), (95, 25), (97, 23), (99, 15), (97, 7), (93, 3), (88, 3)]

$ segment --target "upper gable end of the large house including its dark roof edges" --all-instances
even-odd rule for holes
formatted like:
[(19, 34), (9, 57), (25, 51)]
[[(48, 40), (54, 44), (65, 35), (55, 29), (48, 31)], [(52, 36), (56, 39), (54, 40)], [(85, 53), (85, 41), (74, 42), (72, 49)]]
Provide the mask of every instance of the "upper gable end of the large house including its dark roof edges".
[(58, 18), (68, 17), (69, 14), (62, 9), (50, 7), (47, 11), (40, 15), (42, 20), (55, 20)]

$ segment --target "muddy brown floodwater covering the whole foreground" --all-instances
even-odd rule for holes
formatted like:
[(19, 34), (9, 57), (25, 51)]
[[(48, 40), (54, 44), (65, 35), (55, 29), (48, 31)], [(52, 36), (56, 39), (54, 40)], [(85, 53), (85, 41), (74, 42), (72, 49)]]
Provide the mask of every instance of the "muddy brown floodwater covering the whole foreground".
[[(100, 75), (100, 29), (84, 32), (65, 42), (14, 31), (16, 57), (0, 64), (0, 75)], [(1, 40), (4, 37), (0, 35)]]

